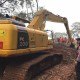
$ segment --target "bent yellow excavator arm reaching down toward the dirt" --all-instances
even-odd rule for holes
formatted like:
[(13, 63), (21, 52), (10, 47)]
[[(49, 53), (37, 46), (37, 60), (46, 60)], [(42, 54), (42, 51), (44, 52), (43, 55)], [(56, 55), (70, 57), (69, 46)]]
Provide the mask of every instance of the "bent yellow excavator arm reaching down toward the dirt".
[(37, 30), (44, 30), (45, 21), (64, 23), (68, 37), (70, 39), (70, 42), (72, 42), (67, 18), (61, 17), (59, 15), (55, 15), (47, 10), (40, 10), (37, 13), (35, 13), (34, 18), (30, 22), (28, 27), (33, 28), (33, 29), (37, 29)]

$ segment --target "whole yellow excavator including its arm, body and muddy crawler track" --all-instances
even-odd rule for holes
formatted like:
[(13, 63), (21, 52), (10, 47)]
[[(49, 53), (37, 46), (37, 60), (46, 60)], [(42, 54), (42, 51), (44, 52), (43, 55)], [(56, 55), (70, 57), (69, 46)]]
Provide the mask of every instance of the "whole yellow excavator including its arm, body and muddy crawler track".
[(17, 16), (0, 20), (0, 80), (31, 80), (42, 67), (53, 65), (54, 54), (49, 51), (54, 45), (48, 44), (46, 21), (63, 23), (71, 42), (67, 18), (45, 9), (36, 12), (31, 21)]

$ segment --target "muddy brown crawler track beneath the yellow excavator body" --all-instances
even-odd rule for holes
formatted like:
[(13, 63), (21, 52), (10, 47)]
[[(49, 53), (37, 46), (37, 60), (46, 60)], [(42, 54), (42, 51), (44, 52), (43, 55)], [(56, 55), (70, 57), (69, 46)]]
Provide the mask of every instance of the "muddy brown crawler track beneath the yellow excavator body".
[(6, 60), (0, 80), (31, 80), (45, 69), (59, 64), (62, 59), (61, 54), (55, 54), (51, 50), (10, 58)]

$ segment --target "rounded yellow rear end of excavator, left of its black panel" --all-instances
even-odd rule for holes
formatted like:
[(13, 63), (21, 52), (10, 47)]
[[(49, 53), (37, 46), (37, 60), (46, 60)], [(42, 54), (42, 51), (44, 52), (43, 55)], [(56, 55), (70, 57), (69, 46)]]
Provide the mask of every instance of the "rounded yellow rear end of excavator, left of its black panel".
[[(5, 31), (4, 35), (2, 34), (3, 31)], [(0, 25), (0, 41), (3, 42), (4, 50), (17, 49), (17, 28), (16, 26), (13, 24), (1, 24)]]

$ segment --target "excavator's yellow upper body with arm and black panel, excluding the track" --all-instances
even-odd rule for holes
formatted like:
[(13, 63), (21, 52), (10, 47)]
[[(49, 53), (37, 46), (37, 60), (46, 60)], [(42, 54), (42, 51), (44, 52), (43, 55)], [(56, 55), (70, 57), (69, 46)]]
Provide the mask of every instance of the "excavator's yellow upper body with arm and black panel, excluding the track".
[(71, 40), (67, 18), (47, 10), (38, 11), (27, 28), (24, 23), (16, 20), (15, 16), (0, 20), (0, 57), (24, 55), (51, 48), (48, 46), (48, 35), (44, 32), (45, 20), (64, 23)]

